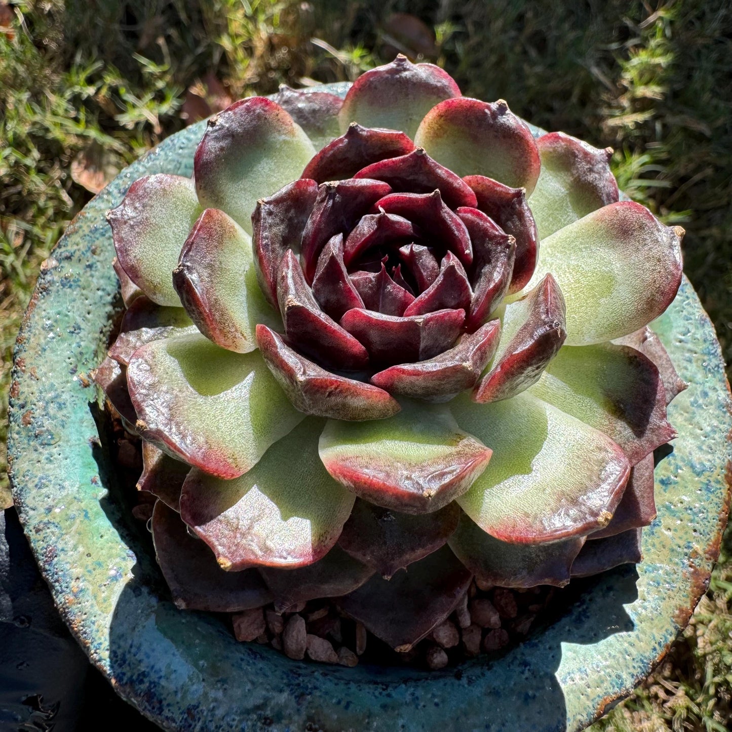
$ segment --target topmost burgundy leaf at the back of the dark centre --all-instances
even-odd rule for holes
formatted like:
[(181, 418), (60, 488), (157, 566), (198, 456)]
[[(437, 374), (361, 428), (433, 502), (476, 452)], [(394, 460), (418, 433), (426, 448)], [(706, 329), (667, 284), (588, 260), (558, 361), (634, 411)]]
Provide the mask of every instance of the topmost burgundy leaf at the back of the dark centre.
[(348, 125), (345, 135), (326, 145), (310, 160), (302, 177), (318, 183), (345, 180), (371, 163), (402, 156), (411, 150), (414, 143), (403, 132), (367, 129), (354, 122)]

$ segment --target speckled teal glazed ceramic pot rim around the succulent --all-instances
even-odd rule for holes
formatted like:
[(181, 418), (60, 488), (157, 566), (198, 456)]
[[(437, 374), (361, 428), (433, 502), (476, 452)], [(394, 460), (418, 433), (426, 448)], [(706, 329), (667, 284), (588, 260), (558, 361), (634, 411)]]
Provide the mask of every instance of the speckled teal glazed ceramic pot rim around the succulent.
[[(329, 91), (345, 94), (347, 86)], [(177, 610), (124, 503), (87, 374), (122, 311), (105, 211), (149, 173), (190, 176), (205, 122), (122, 172), (42, 266), (15, 351), (10, 474), (31, 548), (91, 661), (171, 730), (576, 731), (627, 696), (706, 590), (729, 504), (732, 403), (714, 329), (687, 280), (653, 324), (690, 386), (669, 418), (643, 562), (573, 580), (575, 602), (499, 660), (443, 671), (296, 662)], [(541, 132), (535, 130), (535, 134)]]

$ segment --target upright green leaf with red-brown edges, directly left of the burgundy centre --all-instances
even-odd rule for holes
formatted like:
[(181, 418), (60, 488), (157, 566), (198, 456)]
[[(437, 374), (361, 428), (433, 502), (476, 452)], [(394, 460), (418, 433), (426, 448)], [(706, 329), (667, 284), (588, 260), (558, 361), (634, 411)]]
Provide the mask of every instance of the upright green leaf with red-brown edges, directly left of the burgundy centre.
[(257, 324), (279, 321), (257, 283), (249, 234), (219, 209), (206, 209), (193, 225), (173, 284), (203, 335), (229, 351), (253, 351)]

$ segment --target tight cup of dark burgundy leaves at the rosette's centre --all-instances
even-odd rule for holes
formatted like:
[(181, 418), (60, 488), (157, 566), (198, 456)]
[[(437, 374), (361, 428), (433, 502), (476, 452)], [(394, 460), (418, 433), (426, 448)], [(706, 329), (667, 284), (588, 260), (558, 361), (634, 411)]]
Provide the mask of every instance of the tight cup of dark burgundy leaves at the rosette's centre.
[[(302, 184), (318, 193), (307, 223), (283, 242), (290, 257), (266, 261), (264, 220), (253, 243), (255, 265), (279, 272), (288, 341), (323, 367), (367, 380), (449, 351), (487, 323), (512, 283), (518, 247), (480, 205), (480, 187), (395, 135), (365, 132), (351, 127), (322, 149), (315, 180), (306, 169)], [(262, 202), (286, 204), (278, 193)]]

